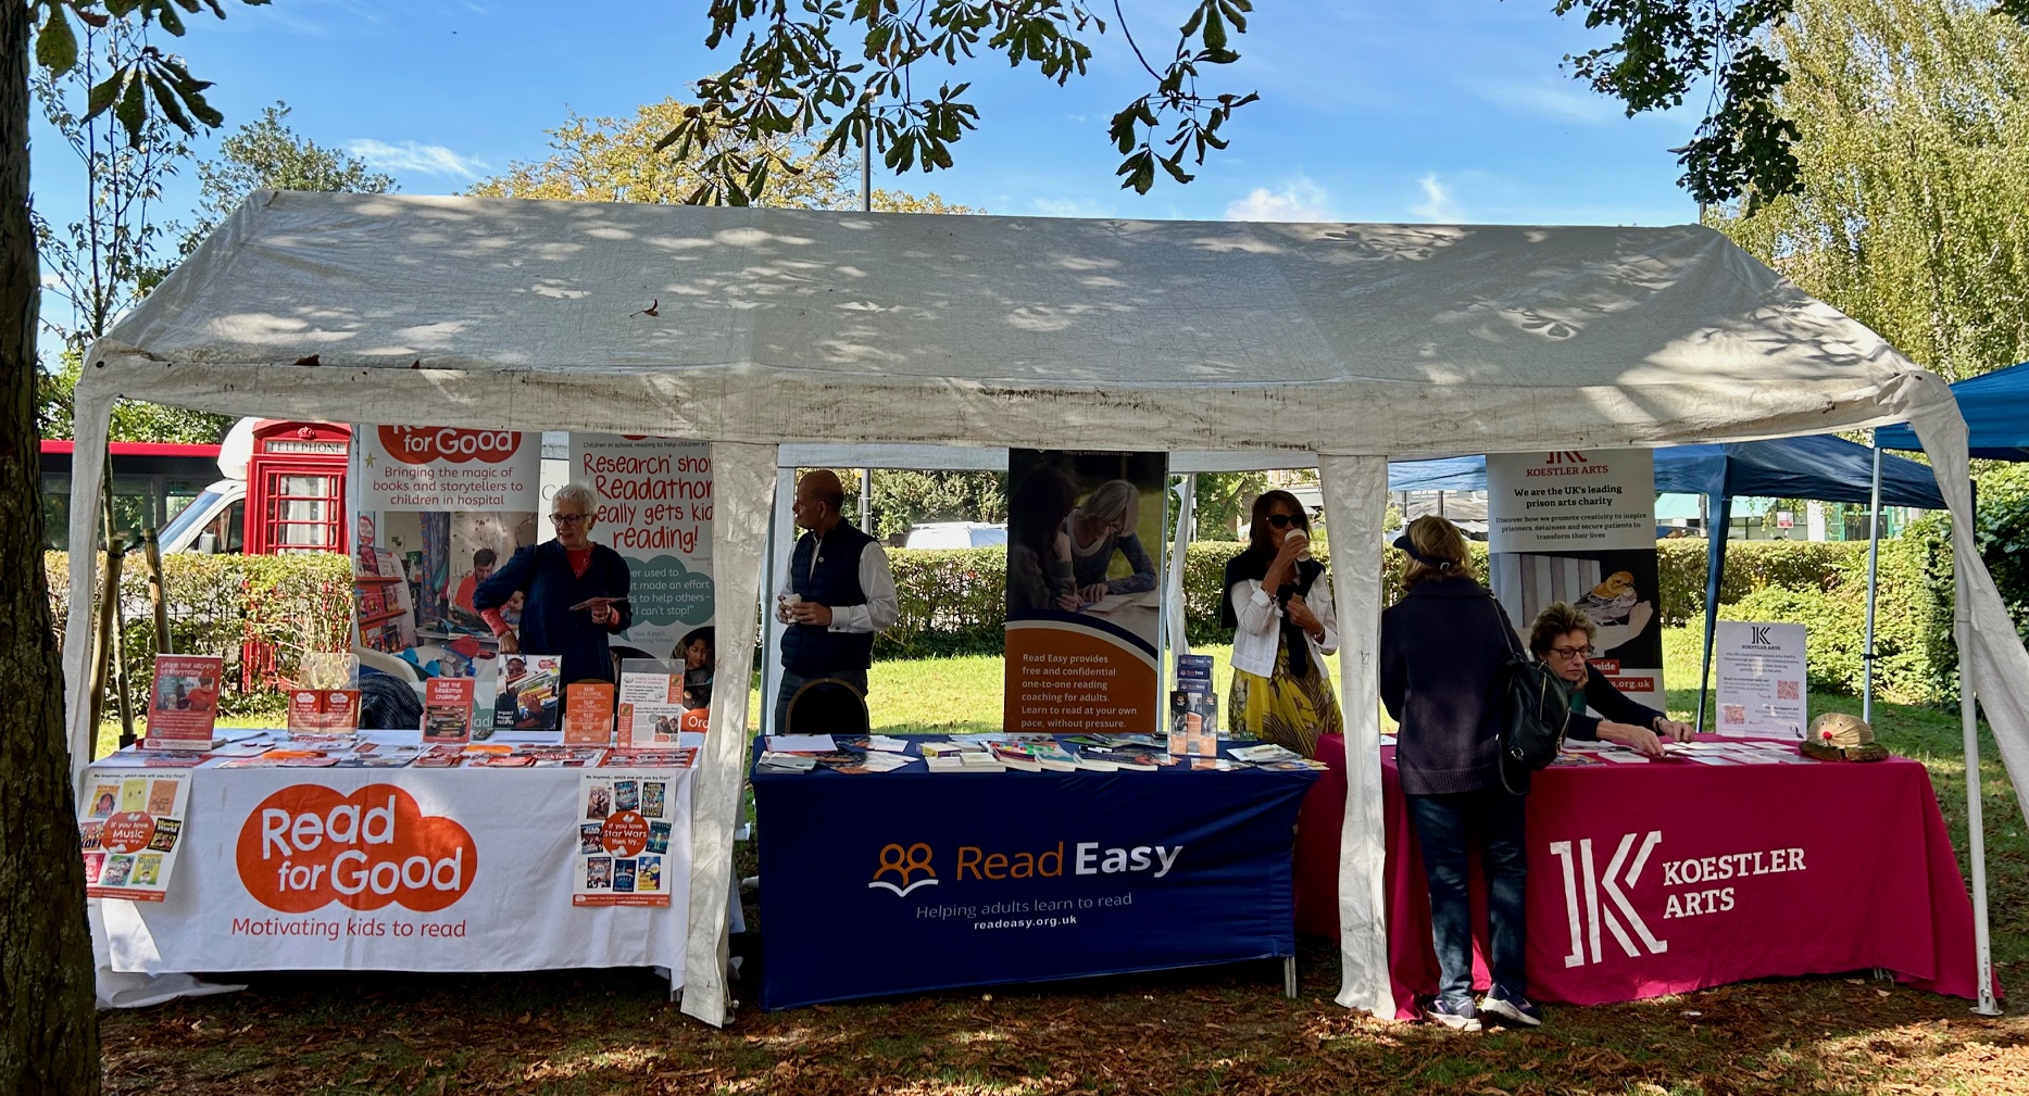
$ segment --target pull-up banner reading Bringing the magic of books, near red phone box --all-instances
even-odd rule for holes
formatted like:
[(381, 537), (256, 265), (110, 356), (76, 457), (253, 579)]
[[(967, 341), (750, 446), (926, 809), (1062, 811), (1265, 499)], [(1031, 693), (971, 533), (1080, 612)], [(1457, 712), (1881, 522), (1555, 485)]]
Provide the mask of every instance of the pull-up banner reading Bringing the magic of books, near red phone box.
[[(355, 426), (353, 438), (359, 643), (430, 678), (481, 678), (483, 737), (493, 727), (495, 641), (473, 591), (538, 540), (542, 436)], [(515, 623), (519, 605), (505, 617)]]

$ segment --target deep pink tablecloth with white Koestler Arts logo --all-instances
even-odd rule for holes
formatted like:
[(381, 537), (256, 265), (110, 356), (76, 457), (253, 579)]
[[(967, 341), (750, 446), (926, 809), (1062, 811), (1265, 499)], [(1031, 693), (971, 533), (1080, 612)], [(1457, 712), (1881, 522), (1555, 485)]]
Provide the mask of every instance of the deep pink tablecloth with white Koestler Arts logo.
[[(1337, 936), (1345, 741), (1327, 735), (1317, 755), (1331, 771), (1299, 820), (1297, 930)], [(1437, 954), (1394, 751), (1382, 761), (1388, 964), (1408, 1017), (1416, 995), (1437, 992)], [(1915, 761), (1550, 767), (1528, 802), (1528, 861), (1538, 1001), (1603, 1005), (1871, 966), (1976, 997), (1972, 903)], [(1485, 986), (1483, 956), (1475, 968)]]

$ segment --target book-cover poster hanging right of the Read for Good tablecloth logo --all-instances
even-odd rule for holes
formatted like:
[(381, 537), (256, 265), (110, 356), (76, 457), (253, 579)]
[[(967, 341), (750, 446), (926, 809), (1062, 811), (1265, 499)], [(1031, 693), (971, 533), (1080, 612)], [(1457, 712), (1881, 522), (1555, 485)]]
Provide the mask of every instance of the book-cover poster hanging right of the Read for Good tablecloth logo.
[(672, 769), (601, 769), (578, 777), (570, 905), (670, 905)]

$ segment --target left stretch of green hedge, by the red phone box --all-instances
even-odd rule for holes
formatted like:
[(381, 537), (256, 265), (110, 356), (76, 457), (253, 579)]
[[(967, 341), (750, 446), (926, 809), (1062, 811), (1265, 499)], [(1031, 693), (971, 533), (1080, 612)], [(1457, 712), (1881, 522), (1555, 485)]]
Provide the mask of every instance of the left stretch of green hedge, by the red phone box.
[[(45, 552), (49, 603), (61, 633), (69, 613), (71, 570), (67, 552)], [(103, 566), (99, 568), (103, 580)], [(201, 556), (174, 552), (162, 558), (168, 595), (168, 629), (179, 654), (213, 654), (229, 668), (219, 696), (225, 714), (278, 712), (280, 678), (292, 678), (304, 652), (345, 649), (353, 619), (351, 560), (329, 552), (298, 556)], [(146, 564), (132, 554), (120, 568), (120, 603), (126, 609), (126, 670), (130, 696), (154, 682), (154, 607)], [(248, 643), (274, 662), (241, 664)], [(116, 714), (108, 694), (106, 712)]]

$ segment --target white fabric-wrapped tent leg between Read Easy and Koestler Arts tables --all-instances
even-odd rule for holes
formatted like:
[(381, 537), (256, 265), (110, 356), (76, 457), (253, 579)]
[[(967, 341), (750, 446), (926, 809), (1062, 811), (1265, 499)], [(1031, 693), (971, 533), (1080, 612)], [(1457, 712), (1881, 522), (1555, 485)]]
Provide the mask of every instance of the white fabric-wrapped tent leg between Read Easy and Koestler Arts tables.
[(1382, 816), (1382, 522), (1384, 457), (1319, 457), (1331, 532), (1331, 603), (1339, 613), (1345, 710), (1345, 826), (1339, 832), (1339, 1005), (1394, 1019), (1388, 980), (1388, 832)]

